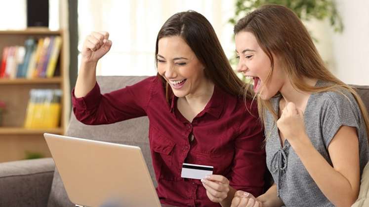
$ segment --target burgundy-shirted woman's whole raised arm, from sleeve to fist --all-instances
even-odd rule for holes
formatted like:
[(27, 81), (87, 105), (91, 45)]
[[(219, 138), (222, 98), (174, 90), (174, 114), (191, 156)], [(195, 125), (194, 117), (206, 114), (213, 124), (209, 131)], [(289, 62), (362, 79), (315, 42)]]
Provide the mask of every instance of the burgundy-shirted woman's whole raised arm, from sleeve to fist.
[(97, 61), (111, 47), (106, 32), (88, 35), (82, 49), (82, 64), (72, 91), (73, 111), (84, 124), (111, 124), (146, 115), (153, 78), (102, 95), (96, 83)]

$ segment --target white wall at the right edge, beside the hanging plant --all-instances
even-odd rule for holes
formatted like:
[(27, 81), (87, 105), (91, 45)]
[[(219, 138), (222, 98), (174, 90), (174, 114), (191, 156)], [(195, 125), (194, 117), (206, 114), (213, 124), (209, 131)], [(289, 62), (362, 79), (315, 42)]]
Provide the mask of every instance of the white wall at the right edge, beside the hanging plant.
[(332, 35), (335, 74), (346, 83), (369, 85), (369, 1), (336, 1), (345, 28)]

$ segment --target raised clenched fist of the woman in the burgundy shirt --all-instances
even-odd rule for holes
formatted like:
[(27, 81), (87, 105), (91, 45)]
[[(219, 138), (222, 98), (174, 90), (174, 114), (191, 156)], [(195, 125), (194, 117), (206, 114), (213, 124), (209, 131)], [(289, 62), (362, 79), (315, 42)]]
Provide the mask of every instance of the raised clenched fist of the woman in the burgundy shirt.
[(108, 32), (92, 32), (86, 36), (82, 48), (82, 62), (97, 62), (112, 47)]

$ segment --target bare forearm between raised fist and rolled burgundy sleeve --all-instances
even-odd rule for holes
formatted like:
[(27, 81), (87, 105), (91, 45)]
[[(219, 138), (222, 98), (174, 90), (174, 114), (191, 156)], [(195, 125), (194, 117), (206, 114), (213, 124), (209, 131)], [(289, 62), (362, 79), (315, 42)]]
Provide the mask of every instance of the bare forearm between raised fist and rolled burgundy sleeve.
[(78, 73), (74, 95), (76, 98), (84, 97), (96, 84), (96, 65), (97, 62), (82, 61)]

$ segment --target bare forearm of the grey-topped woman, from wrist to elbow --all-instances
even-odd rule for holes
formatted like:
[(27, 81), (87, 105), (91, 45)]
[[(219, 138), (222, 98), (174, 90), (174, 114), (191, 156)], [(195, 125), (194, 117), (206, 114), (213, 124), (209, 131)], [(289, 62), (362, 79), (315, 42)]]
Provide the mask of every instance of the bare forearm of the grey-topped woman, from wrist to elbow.
[(351, 206), (355, 202), (358, 196), (356, 190), (346, 177), (328, 164), (309, 138), (299, 139), (291, 143), (291, 146), (319, 189), (334, 206)]

